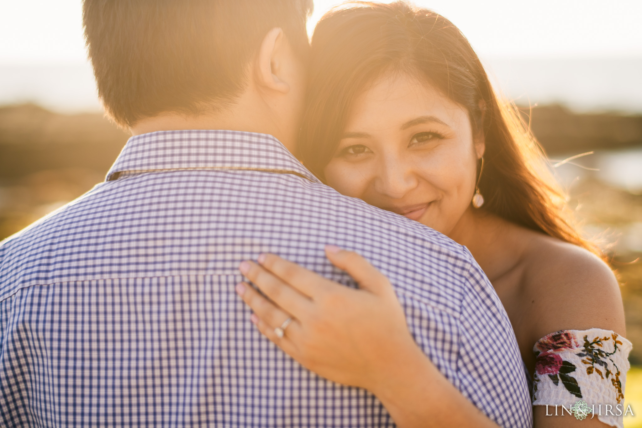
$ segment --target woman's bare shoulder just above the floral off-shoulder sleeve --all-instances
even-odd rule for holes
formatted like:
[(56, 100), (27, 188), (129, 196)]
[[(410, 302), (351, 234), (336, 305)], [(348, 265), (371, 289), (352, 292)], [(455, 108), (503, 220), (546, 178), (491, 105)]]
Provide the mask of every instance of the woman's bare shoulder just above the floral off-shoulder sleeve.
[(599, 257), (579, 246), (539, 235), (525, 262), (523, 302), (533, 341), (557, 330), (600, 328), (625, 336), (620, 286)]

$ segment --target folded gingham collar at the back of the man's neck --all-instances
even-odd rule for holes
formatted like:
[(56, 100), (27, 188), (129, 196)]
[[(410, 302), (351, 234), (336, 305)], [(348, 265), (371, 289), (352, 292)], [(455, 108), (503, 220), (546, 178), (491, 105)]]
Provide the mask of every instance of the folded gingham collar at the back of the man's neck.
[(180, 169), (251, 169), (319, 180), (283, 144), (264, 133), (227, 130), (157, 131), (135, 135), (107, 173)]

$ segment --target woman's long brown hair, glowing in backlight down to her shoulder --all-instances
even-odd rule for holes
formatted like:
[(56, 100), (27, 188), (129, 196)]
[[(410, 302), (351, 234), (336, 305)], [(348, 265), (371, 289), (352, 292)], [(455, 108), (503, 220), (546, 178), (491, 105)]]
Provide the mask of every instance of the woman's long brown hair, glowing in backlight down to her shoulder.
[(499, 103), (473, 47), (446, 18), (401, 1), (359, 2), (318, 22), (311, 53), (299, 157), (322, 180), (356, 96), (381, 76), (409, 73), (466, 108), (473, 132), (483, 132), (483, 210), (601, 255), (573, 227), (519, 112)]

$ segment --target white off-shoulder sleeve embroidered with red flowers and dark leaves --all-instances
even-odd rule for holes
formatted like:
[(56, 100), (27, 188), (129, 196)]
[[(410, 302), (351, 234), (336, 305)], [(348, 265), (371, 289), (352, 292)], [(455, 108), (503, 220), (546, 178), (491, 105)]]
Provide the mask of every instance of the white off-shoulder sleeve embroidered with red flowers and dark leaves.
[(589, 415), (592, 409), (601, 422), (623, 426), (630, 341), (611, 330), (560, 330), (539, 339), (533, 350), (534, 406), (568, 409), (582, 400)]

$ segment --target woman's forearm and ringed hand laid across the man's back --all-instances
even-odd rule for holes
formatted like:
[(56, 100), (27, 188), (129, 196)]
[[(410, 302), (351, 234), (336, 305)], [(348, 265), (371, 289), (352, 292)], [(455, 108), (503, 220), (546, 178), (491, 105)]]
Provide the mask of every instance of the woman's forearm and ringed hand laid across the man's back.
[[(357, 253), (325, 253), (360, 289), (272, 254), (241, 263), (269, 298), (247, 283), (236, 288), (261, 333), (318, 375), (374, 393), (399, 427), (497, 427), (417, 346), (388, 279)], [(275, 329), (290, 317), (279, 338)]]

